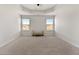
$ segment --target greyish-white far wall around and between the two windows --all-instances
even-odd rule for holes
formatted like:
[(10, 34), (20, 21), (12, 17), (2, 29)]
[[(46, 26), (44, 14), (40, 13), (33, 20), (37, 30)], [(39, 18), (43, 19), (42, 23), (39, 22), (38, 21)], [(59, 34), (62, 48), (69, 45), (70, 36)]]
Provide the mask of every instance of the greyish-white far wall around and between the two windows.
[(32, 31), (44, 31), (45, 35), (53, 34), (53, 31), (46, 30), (46, 19), (53, 19), (53, 15), (24, 15), (22, 18), (31, 20), (30, 31), (22, 32), (24, 35), (32, 35)]

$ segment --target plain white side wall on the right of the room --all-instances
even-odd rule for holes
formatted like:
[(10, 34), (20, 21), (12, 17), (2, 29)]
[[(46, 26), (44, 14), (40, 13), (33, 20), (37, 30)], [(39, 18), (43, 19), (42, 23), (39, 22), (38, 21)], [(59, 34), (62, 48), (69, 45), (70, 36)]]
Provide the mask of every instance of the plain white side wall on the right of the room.
[(79, 5), (63, 5), (56, 12), (56, 34), (79, 47)]

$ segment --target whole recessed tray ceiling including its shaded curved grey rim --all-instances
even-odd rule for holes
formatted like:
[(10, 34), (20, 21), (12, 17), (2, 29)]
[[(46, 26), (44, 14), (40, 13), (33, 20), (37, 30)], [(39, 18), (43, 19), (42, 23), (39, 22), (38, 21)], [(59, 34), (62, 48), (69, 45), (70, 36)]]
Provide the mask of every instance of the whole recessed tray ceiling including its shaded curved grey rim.
[(21, 4), (20, 5), (24, 12), (29, 12), (33, 14), (45, 14), (49, 12), (53, 12), (55, 10), (55, 4)]

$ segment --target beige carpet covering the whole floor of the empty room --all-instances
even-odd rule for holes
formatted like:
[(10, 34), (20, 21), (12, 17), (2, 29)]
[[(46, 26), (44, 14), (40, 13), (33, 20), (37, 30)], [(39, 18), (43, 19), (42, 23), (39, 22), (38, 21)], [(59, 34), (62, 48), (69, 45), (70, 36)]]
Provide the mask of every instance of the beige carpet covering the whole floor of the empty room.
[(79, 54), (79, 48), (57, 37), (19, 37), (0, 48), (0, 54), (9, 55), (69, 55)]

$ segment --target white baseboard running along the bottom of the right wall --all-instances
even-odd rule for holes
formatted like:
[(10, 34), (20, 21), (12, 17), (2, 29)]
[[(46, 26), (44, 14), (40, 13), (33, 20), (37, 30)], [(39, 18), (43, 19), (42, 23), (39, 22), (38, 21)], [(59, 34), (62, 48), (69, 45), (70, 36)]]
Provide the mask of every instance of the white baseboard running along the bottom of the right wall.
[(68, 42), (69, 44), (79, 48), (79, 41), (75, 41), (75, 40), (72, 40), (70, 38), (67, 38), (66, 36), (62, 35), (62, 34), (58, 34), (56, 33), (56, 36), (66, 42)]

